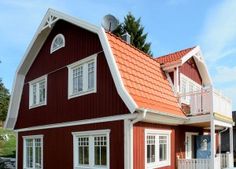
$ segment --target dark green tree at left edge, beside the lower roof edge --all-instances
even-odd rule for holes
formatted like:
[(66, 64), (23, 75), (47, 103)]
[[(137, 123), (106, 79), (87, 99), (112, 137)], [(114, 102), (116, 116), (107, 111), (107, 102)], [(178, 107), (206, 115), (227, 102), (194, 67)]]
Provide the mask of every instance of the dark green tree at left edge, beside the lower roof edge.
[(7, 116), (10, 94), (0, 79), (0, 120), (5, 121)]

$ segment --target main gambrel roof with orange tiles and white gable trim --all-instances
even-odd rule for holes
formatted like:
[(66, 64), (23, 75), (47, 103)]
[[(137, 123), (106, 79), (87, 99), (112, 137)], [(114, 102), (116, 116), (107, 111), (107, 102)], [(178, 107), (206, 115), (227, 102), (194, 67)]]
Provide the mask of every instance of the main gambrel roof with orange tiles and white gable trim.
[(25, 75), (58, 20), (98, 34), (116, 89), (131, 113), (140, 109), (185, 119), (160, 64), (99, 28), (64, 13), (49, 9), (16, 71), (6, 128), (14, 129)]

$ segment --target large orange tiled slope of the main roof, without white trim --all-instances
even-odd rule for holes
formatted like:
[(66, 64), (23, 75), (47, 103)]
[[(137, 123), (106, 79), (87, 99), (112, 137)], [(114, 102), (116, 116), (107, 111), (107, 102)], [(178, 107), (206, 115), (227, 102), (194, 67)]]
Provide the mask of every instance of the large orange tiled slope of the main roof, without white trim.
[(115, 35), (106, 35), (124, 86), (138, 107), (185, 117), (160, 64)]

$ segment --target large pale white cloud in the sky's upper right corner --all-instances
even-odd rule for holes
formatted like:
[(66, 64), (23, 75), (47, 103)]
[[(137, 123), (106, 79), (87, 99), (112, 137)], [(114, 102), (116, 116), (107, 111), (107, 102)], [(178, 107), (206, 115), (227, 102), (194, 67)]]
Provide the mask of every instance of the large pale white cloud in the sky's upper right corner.
[(205, 57), (216, 61), (236, 54), (236, 1), (227, 0), (212, 8), (205, 20), (200, 44)]

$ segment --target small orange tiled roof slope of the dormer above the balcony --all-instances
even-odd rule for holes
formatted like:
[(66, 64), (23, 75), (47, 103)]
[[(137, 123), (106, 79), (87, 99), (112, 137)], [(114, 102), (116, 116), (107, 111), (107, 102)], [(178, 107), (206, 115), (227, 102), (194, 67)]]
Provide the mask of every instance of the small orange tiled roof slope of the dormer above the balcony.
[(195, 47), (187, 48), (187, 49), (180, 50), (174, 53), (170, 53), (168, 55), (160, 56), (160, 57), (155, 58), (155, 60), (159, 62), (160, 64), (178, 61), (182, 57), (184, 57), (187, 53), (189, 53), (193, 48)]

